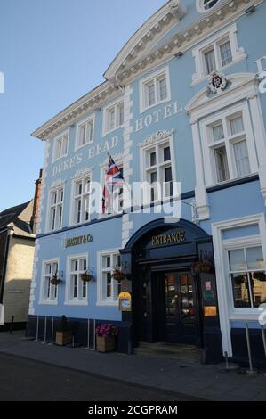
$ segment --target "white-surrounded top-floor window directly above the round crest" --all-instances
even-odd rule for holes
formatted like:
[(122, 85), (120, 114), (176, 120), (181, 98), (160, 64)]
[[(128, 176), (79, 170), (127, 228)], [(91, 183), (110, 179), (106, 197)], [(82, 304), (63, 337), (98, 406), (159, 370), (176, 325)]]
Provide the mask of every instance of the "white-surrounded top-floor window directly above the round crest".
[(246, 58), (244, 48), (238, 46), (237, 34), (238, 27), (235, 23), (193, 48), (195, 73), (192, 76), (192, 85), (209, 77), (214, 70), (225, 70)]

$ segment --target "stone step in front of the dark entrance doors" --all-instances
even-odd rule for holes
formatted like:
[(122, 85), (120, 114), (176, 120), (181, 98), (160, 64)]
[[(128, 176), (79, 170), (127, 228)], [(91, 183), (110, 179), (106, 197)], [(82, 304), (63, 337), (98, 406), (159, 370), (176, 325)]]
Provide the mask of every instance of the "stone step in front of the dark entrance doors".
[(168, 357), (183, 362), (202, 362), (202, 349), (182, 344), (140, 342), (134, 353), (145, 357)]

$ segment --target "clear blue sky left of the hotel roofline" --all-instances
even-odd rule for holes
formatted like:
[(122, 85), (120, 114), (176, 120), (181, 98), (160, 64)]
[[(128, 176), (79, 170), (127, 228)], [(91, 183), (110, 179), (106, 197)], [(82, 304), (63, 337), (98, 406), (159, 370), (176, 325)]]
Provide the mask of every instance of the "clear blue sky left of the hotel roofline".
[(0, 0), (0, 211), (30, 200), (44, 144), (30, 133), (98, 86), (166, 0)]

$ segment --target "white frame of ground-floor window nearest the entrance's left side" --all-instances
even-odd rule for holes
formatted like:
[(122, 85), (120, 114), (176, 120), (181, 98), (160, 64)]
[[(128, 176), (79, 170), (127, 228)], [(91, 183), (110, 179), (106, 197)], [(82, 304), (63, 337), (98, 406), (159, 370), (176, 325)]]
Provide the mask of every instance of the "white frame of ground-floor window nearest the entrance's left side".
[[(102, 258), (104, 256), (110, 256), (111, 257), (111, 262), (110, 262), (110, 267), (109, 268), (103, 268), (102, 267)], [(103, 291), (103, 279), (102, 279), (102, 272), (103, 270), (105, 272), (113, 272), (113, 259), (114, 256), (120, 256), (119, 250), (118, 249), (110, 249), (110, 250), (106, 250), (106, 251), (98, 251), (97, 252), (97, 306), (114, 306), (117, 307), (118, 306), (118, 299), (115, 298), (115, 293), (117, 292), (116, 288), (117, 288), (117, 281), (115, 279), (112, 278), (111, 280), (111, 296), (106, 298), (104, 296), (104, 291)]]

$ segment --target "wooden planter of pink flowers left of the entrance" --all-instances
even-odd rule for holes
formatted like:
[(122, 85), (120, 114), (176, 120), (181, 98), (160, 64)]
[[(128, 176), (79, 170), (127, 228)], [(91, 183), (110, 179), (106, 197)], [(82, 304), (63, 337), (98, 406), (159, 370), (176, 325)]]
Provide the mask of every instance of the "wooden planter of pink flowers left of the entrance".
[(96, 346), (98, 352), (112, 352), (116, 350), (118, 327), (109, 323), (96, 327)]

